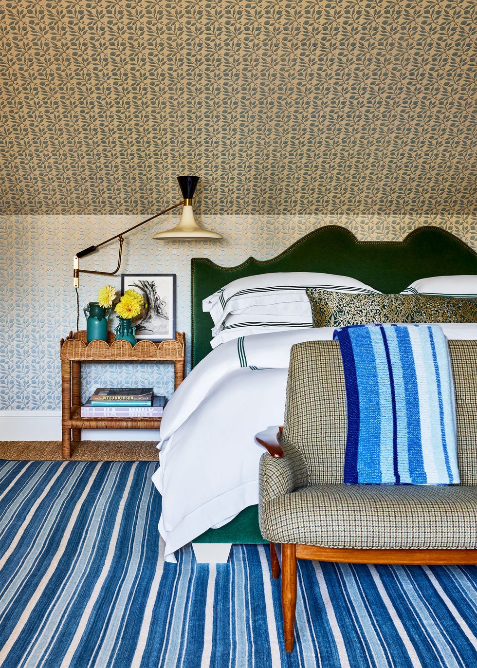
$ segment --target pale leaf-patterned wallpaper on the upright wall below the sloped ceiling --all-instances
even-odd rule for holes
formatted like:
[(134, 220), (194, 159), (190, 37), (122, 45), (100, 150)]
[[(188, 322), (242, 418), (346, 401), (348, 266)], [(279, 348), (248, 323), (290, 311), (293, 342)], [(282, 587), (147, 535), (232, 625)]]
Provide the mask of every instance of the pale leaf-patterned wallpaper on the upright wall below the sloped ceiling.
[[(61, 406), (59, 339), (75, 330), (73, 255), (138, 222), (134, 216), (3, 216), (0, 218), (0, 407), (57, 409)], [(152, 234), (177, 222), (164, 216), (126, 237), (123, 273), (174, 273), (177, 321), (190, 341), (190, 259), (210, 257), (234, 266), (249, 256), (269, 259), (317, 226), (342, 224), (360, 239), (400, 240), (421, 224), (437, 224), (477, 249), (477, 220), (458, 216), (206, 216), (218, 230), (214, 242), (157, 242)], [(116, 267), (117, 242), (82, 262), (84, 269)], [(82, 275), (79, 327), (83, 307), (95, 301), (105, 283), (120, 288), (121, 279)], [(111, 326), (114, 323), (111, 322)], [(149, 385), (172, 391), (169, 365), (84, 365), (84, 399), (98, 385)]]

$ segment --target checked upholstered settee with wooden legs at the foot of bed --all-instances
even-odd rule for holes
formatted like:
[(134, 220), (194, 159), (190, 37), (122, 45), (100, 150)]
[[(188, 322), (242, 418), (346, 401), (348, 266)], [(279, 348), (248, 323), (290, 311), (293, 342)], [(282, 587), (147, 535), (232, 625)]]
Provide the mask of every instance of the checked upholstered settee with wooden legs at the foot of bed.
[(283, 430), (256, 437), (268, 451), (260, 463), (259, 521), (275, 578), (281, 556), (287, 651), (293, 649), (297, 558), (477, 563), (477, 341), (449, 341), (449, 349), (461, 482), (420, 486), (343, 484), (347, 418), (339, 344), (292, 347)]

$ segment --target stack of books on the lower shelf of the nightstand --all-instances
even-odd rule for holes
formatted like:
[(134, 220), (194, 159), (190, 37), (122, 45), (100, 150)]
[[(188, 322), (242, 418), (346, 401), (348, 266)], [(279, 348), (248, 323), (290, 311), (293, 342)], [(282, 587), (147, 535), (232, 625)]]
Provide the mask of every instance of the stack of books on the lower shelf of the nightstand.
[(98, 387), (81, 407), (82, 418), (162, 418), (166, 397), (152, 387)]

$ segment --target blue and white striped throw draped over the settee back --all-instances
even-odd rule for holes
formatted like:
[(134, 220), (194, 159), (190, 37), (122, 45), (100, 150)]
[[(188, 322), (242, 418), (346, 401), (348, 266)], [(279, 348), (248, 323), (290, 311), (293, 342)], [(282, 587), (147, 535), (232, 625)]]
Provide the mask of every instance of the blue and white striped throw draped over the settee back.
[(344, 482), (460, 482), (447, 339), (438, 325), (335, 330), (347, 401)]

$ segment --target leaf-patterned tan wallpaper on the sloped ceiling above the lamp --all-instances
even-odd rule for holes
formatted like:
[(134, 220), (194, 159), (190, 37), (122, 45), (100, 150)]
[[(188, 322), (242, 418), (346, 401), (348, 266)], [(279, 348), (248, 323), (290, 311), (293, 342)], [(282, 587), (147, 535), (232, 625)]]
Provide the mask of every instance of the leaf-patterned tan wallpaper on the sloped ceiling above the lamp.
[(475, 214), (474, 0), (4, 0), (0, 209)]

